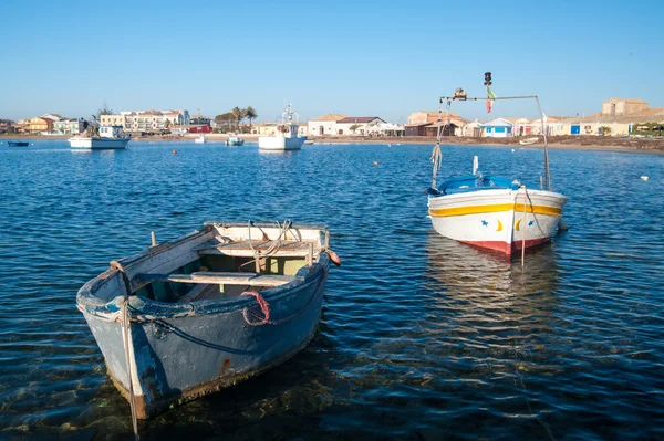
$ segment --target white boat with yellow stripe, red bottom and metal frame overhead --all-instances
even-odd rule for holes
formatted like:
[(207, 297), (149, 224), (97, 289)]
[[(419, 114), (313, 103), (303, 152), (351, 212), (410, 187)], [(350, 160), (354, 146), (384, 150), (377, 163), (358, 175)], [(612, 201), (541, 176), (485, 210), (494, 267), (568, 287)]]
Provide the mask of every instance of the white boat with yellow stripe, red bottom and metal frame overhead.
[[(542, 115), (541, 120), (544, 120), (537, 95), (498, 98), (491, 92), (490, 85), (491, 73), (487, 72), (487, 98), (470, 98), (460, 88), (455, 91), (454, 96), (442, 97), (439, 120), (443, 120), (445, 102), (449, 115), (453, 101), (487, 99), (487, 111), (490, 112), (496, 99), (522, 98), (533, 98)], [(526, 185), (515, 179), (483, 176), (477, 171), (475, 157), (473, 175), (449, 179), (438, 187), (436, 175), (443, 158), (440, 126), (443, 125), (439, 125), (438, 139), (432, 155), (434, 169), (432, 187), (428, 189), (428, 214), (434, 229), (446, 238), (506, 255), (511, 255), (516, 250), (548, 242), (559, 225), (562, 227), (562, 208), (567, 197), (551, 190), (549, 151), (543, 126), (544, 174), (539, 186)]]

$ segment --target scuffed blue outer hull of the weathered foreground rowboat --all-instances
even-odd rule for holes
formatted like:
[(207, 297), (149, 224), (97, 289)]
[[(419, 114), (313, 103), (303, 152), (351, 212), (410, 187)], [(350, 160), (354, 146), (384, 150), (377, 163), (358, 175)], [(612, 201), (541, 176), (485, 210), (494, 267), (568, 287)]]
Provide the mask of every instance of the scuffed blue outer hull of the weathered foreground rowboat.
[(77, 304), (111, 379), (127, 400), (133, 387), (137, 417), (146, 419), (259, 375), (305, 347), (319, 324), (329, 266), (330, 256), (321, 253), (292, 282), (262, 291), (269, 323), (252, 296), (163, 303), (132, 295), (128, 354), (121, 319), (125, 297), (95, 302), (92, 295), (103, 284), (121, 287), (120, 272), (108, 270), (84, 285)]

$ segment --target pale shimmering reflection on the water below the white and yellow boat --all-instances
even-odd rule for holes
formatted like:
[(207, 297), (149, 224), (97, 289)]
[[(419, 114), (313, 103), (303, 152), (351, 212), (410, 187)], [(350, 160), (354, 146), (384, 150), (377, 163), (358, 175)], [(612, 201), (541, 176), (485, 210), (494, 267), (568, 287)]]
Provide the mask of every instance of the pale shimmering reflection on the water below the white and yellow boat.
[(494, 356), (513, 360), (508, 351), (541, 345), (557, 326), (554, 244), (528, 251), (522, 269), (518, 259), (487, 253), (430, 231), (427, 254), (423, 287), (433, 306), (427, 315), (430, 323), (440, 324), (432, 333), (448, 343), (465, 342), (464, 346), (466, 339), (471, 340), (474, 357), (486, 356), (490, 348)]

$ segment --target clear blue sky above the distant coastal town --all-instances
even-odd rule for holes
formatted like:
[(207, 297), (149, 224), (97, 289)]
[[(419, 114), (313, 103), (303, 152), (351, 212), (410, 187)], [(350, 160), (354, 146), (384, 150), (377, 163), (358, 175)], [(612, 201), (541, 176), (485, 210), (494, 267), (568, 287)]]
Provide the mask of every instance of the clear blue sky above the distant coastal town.
[[(1, 0), (0, 118), (253, 106), (405, 120), (464, 87), (539, 94), (548, 115), (611, 96), (664, 107), (661, 0)], [(485, 117), (484, 104), (461, 104)], [(495, 116), (531, 116), (497, 103)]]

